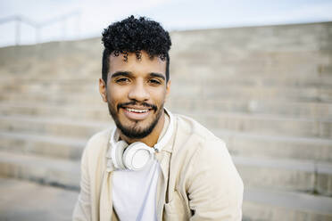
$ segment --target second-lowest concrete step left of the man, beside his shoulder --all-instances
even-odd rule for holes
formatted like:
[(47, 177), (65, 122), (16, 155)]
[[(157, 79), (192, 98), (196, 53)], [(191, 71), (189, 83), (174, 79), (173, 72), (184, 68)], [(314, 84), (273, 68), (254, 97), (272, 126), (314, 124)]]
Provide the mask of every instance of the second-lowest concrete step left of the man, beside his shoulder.
[(0, 151), (62, 160), (80, 160), (87, 139), (88, 137), (78, 139), (66, 136), (0, 132)]

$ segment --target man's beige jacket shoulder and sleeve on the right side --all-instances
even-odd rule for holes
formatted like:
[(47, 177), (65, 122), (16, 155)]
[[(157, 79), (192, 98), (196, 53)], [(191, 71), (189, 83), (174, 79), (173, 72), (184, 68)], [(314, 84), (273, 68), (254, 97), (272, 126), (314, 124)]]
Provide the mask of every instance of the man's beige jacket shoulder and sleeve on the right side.
[(226, 144), (194, 119), (177, 119), (178, 133), (185, 138), (172, 158), (180, 168), (177, 188), (195, 211), (192, 218), (240, 220), (244, 184)]

